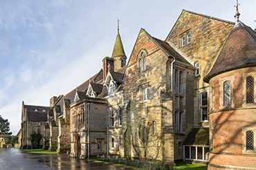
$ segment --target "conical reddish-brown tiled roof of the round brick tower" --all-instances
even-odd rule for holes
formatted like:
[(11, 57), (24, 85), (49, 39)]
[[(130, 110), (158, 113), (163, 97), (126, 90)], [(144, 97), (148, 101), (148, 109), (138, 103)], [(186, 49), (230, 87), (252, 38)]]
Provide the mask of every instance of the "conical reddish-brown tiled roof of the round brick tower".
[(212, 77), (226, 71), (255, 65), (256, 32), (241, 24), (231, 30), (212, 70), (203, 78), (203, 81), (208, 83)]

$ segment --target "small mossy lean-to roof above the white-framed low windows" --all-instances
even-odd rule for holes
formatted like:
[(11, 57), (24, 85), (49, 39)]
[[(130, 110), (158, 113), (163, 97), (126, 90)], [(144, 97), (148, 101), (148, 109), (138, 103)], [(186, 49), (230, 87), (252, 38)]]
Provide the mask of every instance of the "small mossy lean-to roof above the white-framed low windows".
[(209, 145), (209, 128), (194, 128), (185, 138), (183, 145)]

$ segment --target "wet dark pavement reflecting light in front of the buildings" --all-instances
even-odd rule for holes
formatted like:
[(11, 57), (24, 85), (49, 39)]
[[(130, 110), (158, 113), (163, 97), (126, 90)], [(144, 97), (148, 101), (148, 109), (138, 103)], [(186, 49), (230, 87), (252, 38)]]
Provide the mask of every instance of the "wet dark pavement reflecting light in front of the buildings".
[(21, 149), (0, 149), (0, 170), (76, 170), (76, 169), (109, 169), (121, 170), (124, 167), (101, 162), (69, 158), (66, 154), (24, 153)]

